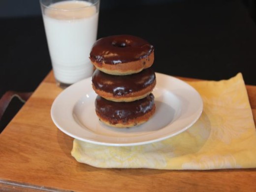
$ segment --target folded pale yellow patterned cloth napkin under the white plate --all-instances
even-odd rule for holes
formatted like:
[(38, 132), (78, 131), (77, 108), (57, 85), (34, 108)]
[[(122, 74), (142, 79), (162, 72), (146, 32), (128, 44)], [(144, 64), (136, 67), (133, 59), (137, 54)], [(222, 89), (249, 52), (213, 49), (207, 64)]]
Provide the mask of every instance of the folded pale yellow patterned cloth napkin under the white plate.
[(241, 73), (229, 80), (188, 82), (203, 98), (199, 120), (163, 141), (128, 147), (74, 139), (72, 156), (104, 168), (224, 169), (256, 167), (256, 129)]

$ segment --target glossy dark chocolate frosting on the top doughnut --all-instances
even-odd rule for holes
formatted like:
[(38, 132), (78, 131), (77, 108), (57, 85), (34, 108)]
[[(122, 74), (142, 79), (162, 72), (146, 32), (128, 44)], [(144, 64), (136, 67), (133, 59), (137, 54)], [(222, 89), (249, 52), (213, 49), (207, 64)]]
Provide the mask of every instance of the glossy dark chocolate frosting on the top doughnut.
[(154, 51), (153, 45), (132, 35), (113, 35), (98, 39), (91, 50), (92, 62), (121, 64), (148, 57)]

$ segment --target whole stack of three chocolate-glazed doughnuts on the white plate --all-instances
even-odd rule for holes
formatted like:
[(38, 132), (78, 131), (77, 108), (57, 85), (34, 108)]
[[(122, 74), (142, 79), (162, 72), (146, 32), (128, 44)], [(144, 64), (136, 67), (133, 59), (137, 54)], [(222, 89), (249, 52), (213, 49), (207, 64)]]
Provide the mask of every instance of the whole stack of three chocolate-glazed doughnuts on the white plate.
[(132, 35), (98, 39), (90, 60), (96, 115), (108, 126), (130, 128), (147, 122), (155, 113), (154, 47)]

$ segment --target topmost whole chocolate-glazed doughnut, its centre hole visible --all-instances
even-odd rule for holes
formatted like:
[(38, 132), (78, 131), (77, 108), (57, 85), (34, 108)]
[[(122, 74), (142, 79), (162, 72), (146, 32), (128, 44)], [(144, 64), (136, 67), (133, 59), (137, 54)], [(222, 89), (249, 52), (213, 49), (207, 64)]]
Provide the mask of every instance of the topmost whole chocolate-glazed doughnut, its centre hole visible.
[(99, 70), (112, 75), (138, 73), (154, 63), (154, 47), (132, 35), (113, 35), (98, 39), (90, 60)]

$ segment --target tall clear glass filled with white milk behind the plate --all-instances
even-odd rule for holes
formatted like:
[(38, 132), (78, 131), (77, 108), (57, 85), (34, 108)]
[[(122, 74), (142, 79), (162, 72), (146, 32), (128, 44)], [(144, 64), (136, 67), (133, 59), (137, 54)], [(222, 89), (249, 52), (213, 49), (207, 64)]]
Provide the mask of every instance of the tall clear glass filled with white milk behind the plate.
[(90, 77), (89, 60), (96, 41), (99, 0), (40, 0), (44, 28), (57, 84)]

